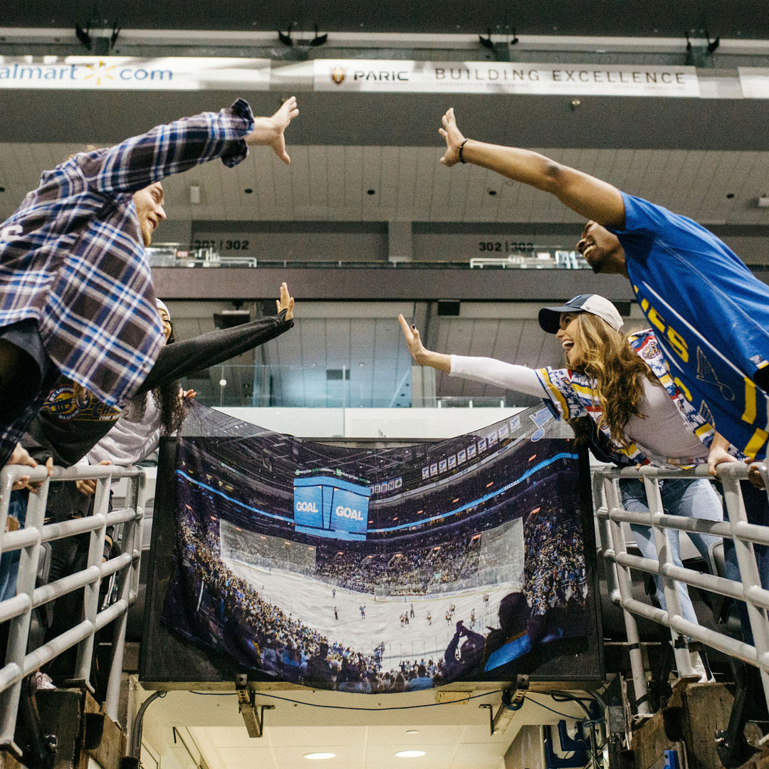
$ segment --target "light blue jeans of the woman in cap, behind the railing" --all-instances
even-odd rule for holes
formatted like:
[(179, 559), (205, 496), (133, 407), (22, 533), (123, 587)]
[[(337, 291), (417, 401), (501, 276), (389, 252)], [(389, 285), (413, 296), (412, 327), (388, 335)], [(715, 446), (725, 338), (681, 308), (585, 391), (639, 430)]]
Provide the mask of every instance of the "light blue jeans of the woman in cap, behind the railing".
[[(724, 508), (721, 506), (721, 500), (718, 498), (710, 481), (704, 478), (695, 480), (681, 479), (659, 481), (660, 496), (662, 498), (662, 508), (667, 515), (681, 515), (687, 518), (704, 518), (707, 521), (723, 521)], [(649, 508), (646, 503), (646, 494), (644, 493), (644, 484), (642, 481), (622, 478), (620, 481), (620, 491), (622, 493), (622, 504), (625, 510), (635, 513), (647, 513)], [(635, 543), (644, 558), (651, 561), (657, 561), (657, 546), (654, 544), (654, 532), (650, 526), (641, 526), (631, 524), (631, 530), (635, 536)], [(710, 564), (708, 558), (708, 548), (714, 542), (720, 541), (720, 537), (711, 536), (711, 534), (694, 534), (687, 531), (687, 536), (694, 544), (694, 547), (700, 551), (707, 564)], [(675, 566), (681, 564), (681, 547), (678, 541), (678, 532), (668, 529), (667, 538), (671, 545), (671, 561)], [(657, 585), (657, 601), (664, 609), (667, 608), (662, 580), (654, 577)], [(691, 605), (687, 585), (683, 582), (675, 582), (678, 601), (681, 604), (681, 616), (697, 623), (697, 614), (694, 614), (694, 607)]]

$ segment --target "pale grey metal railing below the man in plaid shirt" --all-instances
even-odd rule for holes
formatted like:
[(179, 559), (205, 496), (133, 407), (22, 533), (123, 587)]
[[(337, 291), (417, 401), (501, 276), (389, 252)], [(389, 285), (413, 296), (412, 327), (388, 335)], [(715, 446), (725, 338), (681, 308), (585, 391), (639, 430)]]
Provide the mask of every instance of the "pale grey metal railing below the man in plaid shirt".
[[(23, 475), (30, 476), (32, 481), (42, 481), (42, 486), (36, 493), (29, 494), (23, 528), (6, 531), (12, 484)], [(96, 479), (93, 514), (45, 524), (50, 484), (88, 478)], [(128, 478), (126, 507), (109, 512), (110, 484), (118, 478)], [(0, 473), (0, 554), (20, 551), (15, 597), (0, 601), (0, 623), (8, 623), (5, 665), (0, 668), (0, 744), (13, 741), (23, 679), (77, 645), (75, 678), (89, 681), (94, 636), (108, 624), (112, 624), (114, 636), (105, 704), (108, 716), (117, 720), (128, 607), (135, 601), (138, 592), (142, 516), (138, 495), (143, 482), (144, 471), (140, 468), (104, 465), (85, 465), (66, 470), (54, 468), (50, 478), (42, 467), (30, 470), (8, 465)], [(115, 527), (113, 541), (119, 542), (121, 553), (103, 561), (108, 527)], [(88, 532), (90, 540), (86, 568), (36, 587), (42, 544)], [(112, 601), (104, 605), (105, 601), (100, 607), (102, 580), (111, 578), (113, 574)], [(45, 644), (28, 649), (32, 612), (74, 591), (84, 593), (82, 618), (75, 622), (74, 627)]]

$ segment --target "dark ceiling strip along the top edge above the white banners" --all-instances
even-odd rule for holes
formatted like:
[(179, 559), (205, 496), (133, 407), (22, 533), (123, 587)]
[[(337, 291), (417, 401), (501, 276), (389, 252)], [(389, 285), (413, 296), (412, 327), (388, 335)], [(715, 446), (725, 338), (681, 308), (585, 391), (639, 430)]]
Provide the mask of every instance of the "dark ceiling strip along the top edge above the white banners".
[(679, 37), (706, 28), (722, 38), (769, 38), (769, 17), (761, 0), (646, 0), (642, 5), (617, 0), (288, 0), (259, 5), (205, 0), (63, 0), (45, 4), (5, 0), (2, 25), (65, 28), (78, 23), (85, 27), (92, 18), (122, 28), (171, 30), (285, 30), (296, 22), (307, 30), (317, 24), (321, 32), (457, 34), (507, 26), (518, 35)]

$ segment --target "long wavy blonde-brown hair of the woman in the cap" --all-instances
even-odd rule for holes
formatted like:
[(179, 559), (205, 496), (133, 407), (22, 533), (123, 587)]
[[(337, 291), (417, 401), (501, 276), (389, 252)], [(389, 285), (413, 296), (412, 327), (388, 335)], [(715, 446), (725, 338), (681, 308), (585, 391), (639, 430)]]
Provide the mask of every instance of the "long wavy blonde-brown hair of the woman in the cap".
[(580, 338), (575, 341), (578, 341), (583, 357), (577, 371), (595, 381), (596, 386), (591, 392), (598, 398), (603, 412), (598, 427), (608, 427), (614, 441), (629, 448), (630, 441), (624, 434), (628, 419), (631, 416), (646, 417), (638, 410), (644, 395), (641, 378), (662, 385), (631, 348), (622, 331), (614, 331), (606, 321), (590, 312), (581, 312), (577, 318)]

